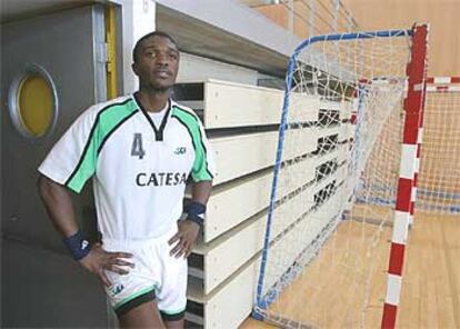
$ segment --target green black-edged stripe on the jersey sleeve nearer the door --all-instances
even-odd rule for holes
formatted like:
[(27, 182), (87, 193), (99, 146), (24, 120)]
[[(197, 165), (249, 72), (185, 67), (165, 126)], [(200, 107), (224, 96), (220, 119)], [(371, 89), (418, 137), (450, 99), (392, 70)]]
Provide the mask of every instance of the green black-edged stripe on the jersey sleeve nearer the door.
[(99, 152), (108, 138), (129, 118), (139, 111), (132, 99), (112, 103), (99, 111), (96, 117), (87, 144), (66, 186), (79, 193), (87, 180), (94, 173)]

